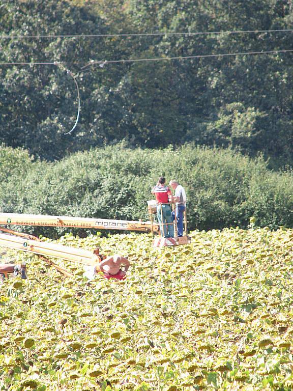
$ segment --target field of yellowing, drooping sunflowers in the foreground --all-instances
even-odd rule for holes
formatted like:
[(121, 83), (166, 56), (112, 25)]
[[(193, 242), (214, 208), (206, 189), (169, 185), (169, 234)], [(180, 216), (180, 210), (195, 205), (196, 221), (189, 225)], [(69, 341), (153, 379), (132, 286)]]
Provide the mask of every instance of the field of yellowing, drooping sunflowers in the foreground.
[(147, 234), (57, 240), (128, 256), (120, 282), (1, 249), (28, 279), (0, 285), (0, 389), (291, 390), (293, 230), (190, 236), (162, 249)]

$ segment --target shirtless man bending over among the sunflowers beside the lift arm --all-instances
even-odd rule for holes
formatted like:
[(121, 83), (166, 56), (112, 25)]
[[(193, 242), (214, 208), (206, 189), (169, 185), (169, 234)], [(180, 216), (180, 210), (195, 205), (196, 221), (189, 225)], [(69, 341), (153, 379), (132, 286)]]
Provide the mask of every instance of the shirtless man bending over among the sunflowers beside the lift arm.
[[(124, 270), (121, 266), (124, 265)], [(117, 280), (124, 280), (125, 274), (129, 269), (130, 263), (127, 258), (120, 255), (113, 255), (103, 259), (97, 266), (97, 271), (101, 271), (105, 278), (116, 278)]]

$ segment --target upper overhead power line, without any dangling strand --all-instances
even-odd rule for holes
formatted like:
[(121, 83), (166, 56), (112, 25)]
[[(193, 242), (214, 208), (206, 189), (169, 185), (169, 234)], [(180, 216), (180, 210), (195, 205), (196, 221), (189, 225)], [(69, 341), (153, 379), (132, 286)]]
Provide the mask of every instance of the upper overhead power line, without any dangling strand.
[(107, 38), (107, 37), (148, 37), (148, 36), (196, 36), (218, 34), (258, 34), (258, 33), (291, 33), (293, 29), (275, 30), (231, 30), (231, 31), (203, 31), (183, 33), (130, 33), (130, 34), (38, 34), (38, 35), (0, 35), (0, 39), (43, 39), (43, 38)]

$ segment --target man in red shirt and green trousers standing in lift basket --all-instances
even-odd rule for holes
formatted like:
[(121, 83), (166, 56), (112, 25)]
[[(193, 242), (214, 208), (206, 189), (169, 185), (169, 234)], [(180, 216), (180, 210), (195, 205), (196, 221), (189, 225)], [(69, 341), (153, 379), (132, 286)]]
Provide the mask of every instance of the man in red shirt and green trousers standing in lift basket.
[(172, 193), (168, 186), (165, 185), (165, 178), (160, 177), (158, 183), (153, 188), (157, 200), (157, 216), (160, 224), (161, 235), (164, 238), (174, 237), (174, 226), (172, 219), (172, 210), (169, 202), (172, 200)]

